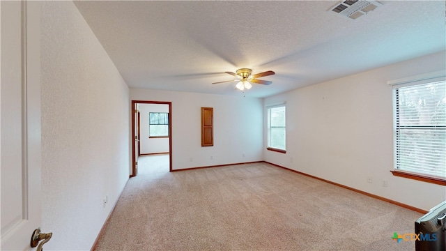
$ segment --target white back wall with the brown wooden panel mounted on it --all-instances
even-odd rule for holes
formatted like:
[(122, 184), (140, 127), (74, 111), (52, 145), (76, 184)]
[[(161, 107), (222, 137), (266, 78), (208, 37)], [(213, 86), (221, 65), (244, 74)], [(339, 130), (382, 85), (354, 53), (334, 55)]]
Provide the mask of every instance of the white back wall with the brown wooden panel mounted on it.
[[(263, 160), (259, 98), (130, 89), (130, 99), (172, 102), (173, 169)], [(214, 108), (214, 146), (201, 146), (201, 107)]]

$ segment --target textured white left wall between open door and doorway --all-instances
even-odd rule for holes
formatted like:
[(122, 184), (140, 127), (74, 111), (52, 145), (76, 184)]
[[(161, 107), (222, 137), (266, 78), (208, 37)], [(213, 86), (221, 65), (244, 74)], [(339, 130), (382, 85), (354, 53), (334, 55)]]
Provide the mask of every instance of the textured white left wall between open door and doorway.
[(129, 178), (128, 86), (71, 1), (41, 11), (45, 250), (89, 250)]

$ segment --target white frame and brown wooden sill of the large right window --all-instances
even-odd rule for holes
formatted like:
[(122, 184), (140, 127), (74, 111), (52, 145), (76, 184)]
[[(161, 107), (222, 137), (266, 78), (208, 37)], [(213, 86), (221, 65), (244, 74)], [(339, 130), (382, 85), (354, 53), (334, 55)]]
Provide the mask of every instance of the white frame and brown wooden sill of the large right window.
[[(387, 84), (390, 84), (393, 86), (392, 89), (392, 103), (393, 103), (393, 114), (392, 114), (392, 119), (393, 119), (393, 158), (394, 158), (394, 164), (393, 164), (393, 169), (392, 174), (394, 176), (399, 176), (402, 178), (410, 178), (416, 181), (423, 181), (426, 183), (434, 183), (437, 185), (446, 185), (446, 177), (439, 177), (439, 176), (430, 176), (429, 174), (422, 174), (422, 173), (418, 173), (418, 172), (410, 172), (410, 171), (406, 171), (406, 170), (401, 170), (397, 168), (397, 162), (398, 162), (398, 148), (397, 148), (397, 143), (398, 143), (398, 136), (400, 134), (400, 129), (401, 127), (403, 129), (405, 128), (410, 128), (410, 126), (400, 126), (399, 125), (399, 120), (400, 118), (397, 117), (399, 116), (399, 104), (397, 102), (397, 96), (399, 95), (399, 89), (402, 87), (407, 87), (407, 86), (417, 86), (417, 85), (422, 85), (422, 84), (429, 84), (429, 83), (434, 83), (434, 82), (441, 82), (441, 81), (446, 81), (446, 74), (445, 71), (440, 71), (440, 72), (436, 72), (436, 73), (428, 73), (428, 74), (424, 74), (424, 75), (417, 75), (414, 77), (408, 77), (405, 79), (397, 79), (397, 80), (393, 80), (393, 81), (389, 81), (387, 82)], [(424, 128), (424, 126), (423, 126)], [(444, 129), (444, 126), (426, 126), (425, 128), (433, 128), (433, 129), (438, 129), (440, 128), (440, 130)], [(420, 130), (424, 130), (424, 129), (420, 129)]]

